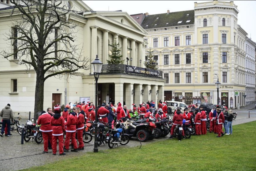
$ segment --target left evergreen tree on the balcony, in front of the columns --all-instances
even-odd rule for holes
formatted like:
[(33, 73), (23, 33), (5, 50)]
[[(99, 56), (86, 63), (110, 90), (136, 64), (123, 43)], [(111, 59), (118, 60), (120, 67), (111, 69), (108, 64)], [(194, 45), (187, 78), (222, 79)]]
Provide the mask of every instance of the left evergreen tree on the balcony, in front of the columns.
[(119, 48), (119, 42), (117, 41), (116, 37), (114, 42), (110, 46), (112, 47), (112, 49), (110, 50), (111, 54), (108, 55), (108, 64), (123, 64), (123, 55), (121, 55), (121, 48)]

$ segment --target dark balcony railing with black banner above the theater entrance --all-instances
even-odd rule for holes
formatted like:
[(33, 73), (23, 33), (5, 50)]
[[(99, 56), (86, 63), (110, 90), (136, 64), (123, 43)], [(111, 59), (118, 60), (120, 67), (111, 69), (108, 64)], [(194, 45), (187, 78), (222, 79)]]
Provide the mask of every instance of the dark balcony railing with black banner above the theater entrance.
[(102, 74), (129, 74), (144, 77), (163, 78), (163, 71), (140, 68), (124, 64), (107, 64), (102, 66)]

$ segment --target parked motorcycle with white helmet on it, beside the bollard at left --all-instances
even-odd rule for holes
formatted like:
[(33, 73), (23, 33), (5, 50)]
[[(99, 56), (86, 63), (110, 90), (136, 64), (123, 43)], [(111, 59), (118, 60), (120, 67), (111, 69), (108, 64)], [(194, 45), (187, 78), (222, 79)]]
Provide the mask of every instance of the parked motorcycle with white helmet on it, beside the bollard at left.
[[(32, 118), (32, 121), (37, 119)], [(28, 142), (31, 138), (32, 140), (35, 139), (37, 144), (40, 144), (43, 141), (43, 134), (39, 130), (41, 125), (37, 125), (36, 123), (32, 123), (31, 121), (27, 120), (25, 125), (26, 131), (24, 132), (24, 141)]]

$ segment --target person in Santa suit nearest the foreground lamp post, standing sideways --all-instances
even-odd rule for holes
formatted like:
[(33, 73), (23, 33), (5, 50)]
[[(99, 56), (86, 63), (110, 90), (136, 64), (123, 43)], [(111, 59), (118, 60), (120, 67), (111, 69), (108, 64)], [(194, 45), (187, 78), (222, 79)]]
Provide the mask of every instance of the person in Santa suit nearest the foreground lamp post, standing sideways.
[(76, 108), (76, 112), (78, 113), (77, 118), (77, 140), (78, 140), (78, 149), (77, 150), (84, 150), (84, 142), (83, 142), (83, 131), (84, 131), (84, 111), (80, 111), (80, 108)]

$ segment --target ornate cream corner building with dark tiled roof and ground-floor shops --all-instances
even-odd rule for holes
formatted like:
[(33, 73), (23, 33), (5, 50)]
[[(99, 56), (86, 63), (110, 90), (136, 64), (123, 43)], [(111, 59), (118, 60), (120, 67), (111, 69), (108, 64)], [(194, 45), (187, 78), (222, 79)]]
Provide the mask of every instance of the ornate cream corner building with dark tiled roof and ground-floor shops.
[(165, 100), (245, 105), (247, 33), (237, 25), (238, 12), (232, 1), (214, 0), (195, 3), (189, 11), (143, 14), (144, 39), (166, 80)]

